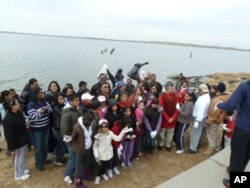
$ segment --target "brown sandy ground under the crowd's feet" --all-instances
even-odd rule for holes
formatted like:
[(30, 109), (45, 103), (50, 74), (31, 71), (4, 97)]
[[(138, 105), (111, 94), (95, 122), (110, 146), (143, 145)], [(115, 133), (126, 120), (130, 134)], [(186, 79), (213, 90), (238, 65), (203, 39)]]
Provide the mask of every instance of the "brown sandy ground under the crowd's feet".
[[(185, 145), (188, 147), (190, 128), (186, 132)], [(6, 148), (6, 144), (0, 141), (0, 147)], [(142, 156), (139, 160), (133, 161), (133, 167), (120, 169), (121, 174), (113, 179), (100, 182), (85, 181), (88, 187), (117, 188), (117, 187), (154, 187), (160, 183), (176, 176), (195, 166), (209, 156), (202, 154), (206, 148), (206, 142), (200, 144), (197, 154), (176, 154), (175, 147), (172, 152), (166, 150), (155, 150), (153, 155)], [(61, 188), (68, 186), (63, 182), (64, 167), (55, 167), (53, 164), (45, 166), (45, 171), (38, 172), (34, 165), (34, 151), (28, 152), (26, 165), (30, 169), (31, 177), (25, 181), (14, 180), (13, 157), (7, 156), (5, 151), (0, 152), (0, 187), (1, 188)]]

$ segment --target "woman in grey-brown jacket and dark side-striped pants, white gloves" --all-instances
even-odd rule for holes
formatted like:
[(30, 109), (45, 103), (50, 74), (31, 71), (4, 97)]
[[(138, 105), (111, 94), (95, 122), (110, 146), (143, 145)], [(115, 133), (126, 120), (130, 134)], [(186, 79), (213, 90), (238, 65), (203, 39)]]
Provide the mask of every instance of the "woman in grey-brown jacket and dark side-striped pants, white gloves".
[(177, 118), (177, 126), (175, 130), (176, 153), (184, 152), (184, 133), (192, 122), (193, 106), (195, 102), (194, 93), (186, 93), (184, 96), (184, 103), (176, 108), (180, 112)]

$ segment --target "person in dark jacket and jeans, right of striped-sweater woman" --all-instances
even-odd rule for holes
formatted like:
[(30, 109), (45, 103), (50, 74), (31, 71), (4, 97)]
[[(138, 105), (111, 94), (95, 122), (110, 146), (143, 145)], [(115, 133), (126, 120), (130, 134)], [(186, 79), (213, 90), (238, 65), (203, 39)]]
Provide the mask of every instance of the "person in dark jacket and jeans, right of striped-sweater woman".
[(52, 112), (52, 133), (54, 138), (56, 139), (56, 148), (55, 148), (55, 166), (63, 166), (62, 164), (62, 158), (64, 154), (67, 151), (67, 147), (65, 143), (63, 142), (62, 135), (60, 134), (60, 123), (61, 123), (61, 116), (62, 116), (62, 110), (64, 107), (64, 98), (61, 94), (54, 96), (54, 102), (53, 102), (53, 112)]

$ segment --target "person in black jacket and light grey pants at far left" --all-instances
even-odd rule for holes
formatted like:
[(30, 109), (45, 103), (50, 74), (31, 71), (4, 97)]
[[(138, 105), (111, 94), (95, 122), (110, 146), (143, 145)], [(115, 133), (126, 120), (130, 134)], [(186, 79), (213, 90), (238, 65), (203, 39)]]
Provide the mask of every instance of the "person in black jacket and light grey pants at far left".
[(8, 149), (15, 157), (15, 180), (26, 180), (30, 177), (29, 170), (25, 166), (29, 135), (24, 115), (16, 99), (10, 101), (9, 110), (3, 120), (3, 125)]

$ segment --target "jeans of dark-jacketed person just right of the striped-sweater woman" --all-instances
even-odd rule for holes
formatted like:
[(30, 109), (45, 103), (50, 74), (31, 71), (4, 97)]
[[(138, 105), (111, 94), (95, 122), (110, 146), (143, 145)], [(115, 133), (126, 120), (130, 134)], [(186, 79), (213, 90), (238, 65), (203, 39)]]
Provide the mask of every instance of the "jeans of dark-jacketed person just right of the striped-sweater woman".
[(64, 154), (67, 151), (67, 147), (66, 147), (66, 144), (64, 143), (63, 138), (62, 138), (59, 131), (52, 128), (52, 133), (53, 133), (53, 136), (56, 139), (56, 148), (55, 148), (56, 158), (55, 158), (55, 161), (56, 162), (61, 162), (62, 157), (64, 156)]

